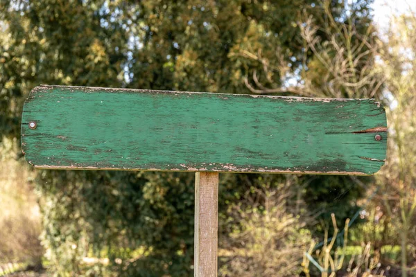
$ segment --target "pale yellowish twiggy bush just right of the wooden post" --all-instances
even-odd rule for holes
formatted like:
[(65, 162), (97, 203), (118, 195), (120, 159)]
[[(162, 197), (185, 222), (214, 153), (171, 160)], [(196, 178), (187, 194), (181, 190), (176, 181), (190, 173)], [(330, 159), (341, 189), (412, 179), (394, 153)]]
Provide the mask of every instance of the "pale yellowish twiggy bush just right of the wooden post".
[[(311, 233), (308, 217), (294, 215), (293, 184), (264, 175), (228, 208), (235, 222), (222, 238), (220, 276), (295, 276)], [(259, 185), (259, 186), (256, 186)]]

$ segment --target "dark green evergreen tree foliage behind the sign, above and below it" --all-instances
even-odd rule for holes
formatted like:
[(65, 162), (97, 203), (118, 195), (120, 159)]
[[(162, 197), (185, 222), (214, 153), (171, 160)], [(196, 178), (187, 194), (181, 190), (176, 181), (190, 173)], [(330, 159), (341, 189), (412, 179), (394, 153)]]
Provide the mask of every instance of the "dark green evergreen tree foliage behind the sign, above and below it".
[[(359, 2), (354, 20), (367, 22), (369, 1)], [(327, 20), (312, 0), (0, 0), (0, 132), (19, 137), (24, 98), (38, 84), (250, 93), (255, 75), (267, 87), (281, 87), (313, 60), (299, 27), (303, 10), (318, 24)], [(331, 12), (348, 19), (338, 1)], [(258, 175), (223, 176), (220, 211), (243, 202), (245, 186), (261, 186)], [(348, 216), (347, 202), (361, 189), (346, 190), (343, 179), (320, 180), (313, 186), (325, 190), (323, 200), (339, 197), (335, 206)], [(317, 206), (315, 197), (322, 196), (304, 190), (305, 182), (293, 186), (307, 196), (307, 210), (318, 211), (324, 204)], [(42, 241), (58, 274), (105, 274), (100, 265), (85, 271), (83, 258), (95, 256), (109, 258), (107, 268), (123, 276), (191, 275), (192, 174), (42, 171), (37, 191)], [(293, 215), (306, 212), (297, 207)]]

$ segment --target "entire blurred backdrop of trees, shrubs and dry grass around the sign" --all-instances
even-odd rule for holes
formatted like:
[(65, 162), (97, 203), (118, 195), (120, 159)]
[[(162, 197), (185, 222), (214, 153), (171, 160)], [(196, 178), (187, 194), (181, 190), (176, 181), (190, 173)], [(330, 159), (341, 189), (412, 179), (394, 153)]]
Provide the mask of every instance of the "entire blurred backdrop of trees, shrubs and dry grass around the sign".
[(332, 271), (416, 274), (416, 17), (382, 36), (371, 3), (0, 0), (0, 274), (193, 274), (193, 174), (33, 171), (19, 119), (38, 84), (377, 98), (376, 177), (220, 175), (220, 276), (329, 276), (302, 258), (347, 218), (349, 248), (324, 247), (352, 259)]

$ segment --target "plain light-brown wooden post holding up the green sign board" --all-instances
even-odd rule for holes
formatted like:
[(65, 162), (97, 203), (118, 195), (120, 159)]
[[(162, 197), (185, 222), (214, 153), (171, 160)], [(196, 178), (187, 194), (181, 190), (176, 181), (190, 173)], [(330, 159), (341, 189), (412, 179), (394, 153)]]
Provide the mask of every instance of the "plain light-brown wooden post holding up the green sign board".
[(195, 176), (195, 277), (216, 277), (218, 258), (218, 172)]

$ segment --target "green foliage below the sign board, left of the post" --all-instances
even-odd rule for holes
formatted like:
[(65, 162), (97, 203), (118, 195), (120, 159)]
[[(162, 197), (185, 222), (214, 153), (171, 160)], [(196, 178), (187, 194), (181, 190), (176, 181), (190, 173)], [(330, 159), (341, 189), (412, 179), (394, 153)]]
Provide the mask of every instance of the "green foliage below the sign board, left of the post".
[[(190, 271), (193, 175), (44, 171), (39, 178), (43, 238), (62, 272), (81, 274), (76, 259), (87, 256), (89, 245), (96, 257), (105, 250), (113, 269), (126, 268), (125, 274), (144, 265), (161, 274)], [(143, 257), (123, 250), (140, 247)]]

